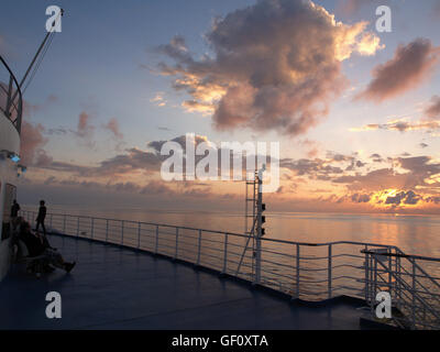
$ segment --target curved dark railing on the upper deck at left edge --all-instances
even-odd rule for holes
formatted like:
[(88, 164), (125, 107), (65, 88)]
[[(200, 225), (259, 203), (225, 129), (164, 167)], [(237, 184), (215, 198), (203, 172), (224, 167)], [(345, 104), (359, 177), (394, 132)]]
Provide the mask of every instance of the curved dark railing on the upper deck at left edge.
[(0, 111), (12, 122), (16, 131), (21, 132), (23, 100), (20, 85), (8, 64), (0, 56)]

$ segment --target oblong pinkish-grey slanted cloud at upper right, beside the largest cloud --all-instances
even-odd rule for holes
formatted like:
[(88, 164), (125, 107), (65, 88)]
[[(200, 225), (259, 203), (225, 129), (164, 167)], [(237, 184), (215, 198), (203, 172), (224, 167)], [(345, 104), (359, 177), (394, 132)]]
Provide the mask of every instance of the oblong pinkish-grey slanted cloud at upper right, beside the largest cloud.
[(356, 98), (382, 102), (417, 88), (439, 61), (439, 47), (426, 38), (399, 45), (394, 57), (373, 70), (373, 80)]

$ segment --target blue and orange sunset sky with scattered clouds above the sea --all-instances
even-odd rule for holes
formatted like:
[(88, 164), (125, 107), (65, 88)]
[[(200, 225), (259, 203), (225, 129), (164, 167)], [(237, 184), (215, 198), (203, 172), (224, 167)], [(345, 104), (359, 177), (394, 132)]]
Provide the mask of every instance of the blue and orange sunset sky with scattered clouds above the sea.
[(195, 133), (279, 142), (274, 210), (440, 213), (440, 0), (4, 0), (19, 78), (51, 4), (66, 14), (24, 94), (23, 204), (241, 206), (243, 183), (161, 178), (163, 142)]

